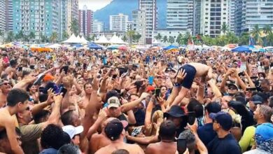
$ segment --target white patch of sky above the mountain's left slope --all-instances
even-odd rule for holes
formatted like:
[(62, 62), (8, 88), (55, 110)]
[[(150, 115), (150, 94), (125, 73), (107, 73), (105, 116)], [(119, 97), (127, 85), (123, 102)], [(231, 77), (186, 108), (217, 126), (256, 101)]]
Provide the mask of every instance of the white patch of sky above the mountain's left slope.
[(96, 11), (107, 6), (111, 1), (113, 0), (79, 0), (79, 8), (82, 9), (86, 5), (88, 9)]

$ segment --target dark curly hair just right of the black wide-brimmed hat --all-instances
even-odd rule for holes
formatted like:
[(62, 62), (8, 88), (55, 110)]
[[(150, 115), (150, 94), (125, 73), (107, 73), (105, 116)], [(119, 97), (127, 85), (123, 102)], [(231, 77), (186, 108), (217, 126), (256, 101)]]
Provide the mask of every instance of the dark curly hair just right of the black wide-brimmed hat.
[(190, 99), (187, 109), (188, 112), (195, 112), (196, 118), (204, 116), (204, 107), (197, 99)]

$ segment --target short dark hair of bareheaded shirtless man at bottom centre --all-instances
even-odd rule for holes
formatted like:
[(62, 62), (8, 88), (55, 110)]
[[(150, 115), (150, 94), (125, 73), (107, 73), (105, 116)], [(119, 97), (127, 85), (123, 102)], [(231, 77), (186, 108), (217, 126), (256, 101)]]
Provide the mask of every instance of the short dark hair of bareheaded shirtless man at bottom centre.
[(171, 120), (166, 120), (160, 125), (159, 137), (164, 140), (173, 140), (176, 136), (176, 126)]

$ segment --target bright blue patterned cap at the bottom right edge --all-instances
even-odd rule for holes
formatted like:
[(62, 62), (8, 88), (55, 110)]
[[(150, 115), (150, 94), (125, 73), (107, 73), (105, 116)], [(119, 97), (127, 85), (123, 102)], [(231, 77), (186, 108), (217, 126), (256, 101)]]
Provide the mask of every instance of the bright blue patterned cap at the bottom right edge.
[(257, 143), (257, 148), (273, 153), (273, 147), (268, 146), (273, 144), (273, 124), (262, 123), (261, 125), (258, 125), (255, 130), (255, 141)]

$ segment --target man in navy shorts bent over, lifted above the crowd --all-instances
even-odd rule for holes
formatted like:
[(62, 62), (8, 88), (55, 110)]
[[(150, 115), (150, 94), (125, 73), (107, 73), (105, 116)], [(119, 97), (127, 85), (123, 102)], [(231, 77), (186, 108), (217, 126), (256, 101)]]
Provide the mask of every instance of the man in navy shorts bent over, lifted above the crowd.
[[(182, 86), (182, 88), (179, 92), (179, 95), (174, 99), (172, 105), (178, 105), (179, 103), (181, 103), (182, 99), (186, 96), (188, 90), (190, 90), (190, 87), (193, 85), (193, 80), (199, 77), (210, 80), (212, 78), (211, 66), (195, 62), (184, 64), (183, 66), (181, 66), (179, 72), (177, 73), (176, 83), (174, 83), (174, 86)], [(182, 81), (177, 80), (178, 78), (182, 79)]]

